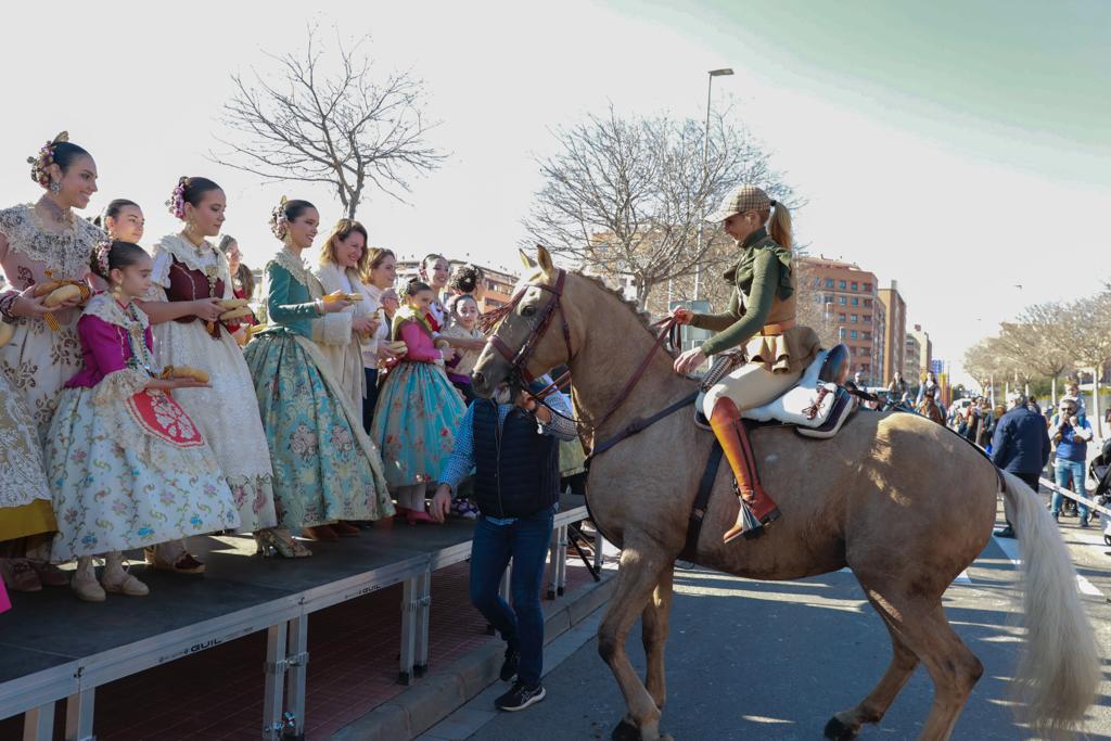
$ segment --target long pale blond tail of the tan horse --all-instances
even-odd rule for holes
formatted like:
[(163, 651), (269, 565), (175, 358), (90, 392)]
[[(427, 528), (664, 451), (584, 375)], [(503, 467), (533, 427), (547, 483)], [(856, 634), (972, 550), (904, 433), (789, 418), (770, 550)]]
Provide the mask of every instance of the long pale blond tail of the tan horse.
[(1002, 474), (1025, 575), (1027, 641), (1015, 674), (1018, 699), (1034, 729), (1054, 738), (1080, 725), (1095, 701), (1099, 652), (1057, 524), (1030, 487), (1005, 471)]

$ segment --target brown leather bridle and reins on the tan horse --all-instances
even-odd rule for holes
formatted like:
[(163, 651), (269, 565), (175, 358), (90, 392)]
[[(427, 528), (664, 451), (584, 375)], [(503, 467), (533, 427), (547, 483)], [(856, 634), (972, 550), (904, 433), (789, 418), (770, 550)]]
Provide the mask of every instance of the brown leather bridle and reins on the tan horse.
[[(529, 372), (527, 366), (529, 360), (532, 358), (532, 354), (536, 352), (537, 346), (543, 339), (544, 333), (554, 320), (557, 313), (560, 316), (560, 320), (563, 326), (563, 343), (567, 346), (567, 362), (570, 363), (571, 359), (574, 358), (574, 352), (571, 349), (571, 327), (567, 323), (567, 314), (563, 312), (563, 304), (561, 303), (561, 299), (563, 298), (563, 286), (565, 282), (567, 271), (560, 269), (556, 276), (556, 283), (553, 286), (549, 286), (547, 283), (526, 283), (517, 291), (517, 293), (513, 294), (513, 298), (509, 303), (482, 316), (482, 329), (490, 334), (489, 339), (487, 339), (487, 344), (497, 350), (498, 354), (500, 354), (509, 363), (508, 378), (510, 380), (522, 379), (524, 383), (531, 383), (536, 380), (536, 377)], [(524, 338), (521, 349), (514, 352), (501, 340), (501, 338), (498, 337), (497, 327), (513, 311), (517, 304), (521, 302), (524, 293), (530, 288), (538, 288), (551, 293), (551, 300), (549, 300), (541, 310), (539, 320), (529, 331), (529, 336)], [(669, 340), (671, 340), (672, 344), (678, 344), (675, 338), (673, 337), (673, 334), (677, 333), (678, 327), (679, 326), (675, 323), (673, 317), (667, 317), (652, 324), (653, 329), (659, 330), (655, 336), (655, 341), (649, 349), (648, 354), (644, 356), (644, 359), (640, 362), (640, 366), (637, 367), (637, 370), (633, 371), (632, 375), (629, 377), (629, 380), (625, 381), (625, 384), (621, 388), (621, 391), (610, 403), (605, 413), (602, 414), (597, 422), (587, 422), (579, 419), (573, 421), (580, 427), (588, 428), (591, 433), (605, 424), (605, 422), (613, 415), (621, 404), (625, 402), (633, 388), (640, 382), (640, 379), (643, 378), (644, 371), (648, 370), (648, 366), (651, 362), (652, 357), (655, 354), (655, 351), (667, 344)], [(568, 371), (560, 378), (552, 381), (540, 393), (534, 395), (541, 400), (551, 395), (557, 390), (564, 387), (570, 380), (570, 377), (571, 373)], [(552, 413), (558, 412), (552, 410)]]

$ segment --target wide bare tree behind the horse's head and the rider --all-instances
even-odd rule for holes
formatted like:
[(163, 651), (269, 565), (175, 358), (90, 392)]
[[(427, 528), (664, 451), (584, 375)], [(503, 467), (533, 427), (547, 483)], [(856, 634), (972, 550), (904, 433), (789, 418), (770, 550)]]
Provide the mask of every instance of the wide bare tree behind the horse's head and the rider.
[[(770, 157), (725, 113), (705, 132), (694, 119), (605, 116), (556, 133), (561, 151), (539, 161), (543, 187), (524, 220), (530, 241), (602, 276), (631, 279), (642, 308), (657, 287), (673, 282), (678, 298), (699, 268), (735, 259), (732, 240), (703, 217), (743, 182), (789, 202), (792, 192)], [(680, 284), (681, 283), (681, 284)]]

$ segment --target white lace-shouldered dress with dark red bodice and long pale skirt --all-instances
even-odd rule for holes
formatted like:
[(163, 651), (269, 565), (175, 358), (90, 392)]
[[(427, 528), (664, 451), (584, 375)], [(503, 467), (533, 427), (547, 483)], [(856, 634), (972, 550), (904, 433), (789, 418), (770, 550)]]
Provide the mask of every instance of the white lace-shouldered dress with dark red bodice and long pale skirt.
[[(154, 248), (153, 301), (234, 298), (228, 260), (204, 242), (194, 247), (179, 234)], [(199, 319), (153, 326), (154, 367), (191, 366), (211, 378), (211, 389), (181, 389), (174, 398), (200, 428), (236, 498), (244, 532), (278, 522), (273, 470), (243, 352), (228, 329), (209, 329)]]

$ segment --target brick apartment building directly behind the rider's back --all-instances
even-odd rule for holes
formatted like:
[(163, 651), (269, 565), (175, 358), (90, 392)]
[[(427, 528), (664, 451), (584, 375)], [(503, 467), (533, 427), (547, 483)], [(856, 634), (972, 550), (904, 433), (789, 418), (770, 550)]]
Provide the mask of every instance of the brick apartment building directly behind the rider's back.
[(799, 257), (795, 264), (799, 321), (813, 327), (827, 343), (843, 342), (851, 353), (850, 372), (859, 371), (868, 385), (878, 385), (887, 312), (877, 298), (875, 273), (824, 257)]

